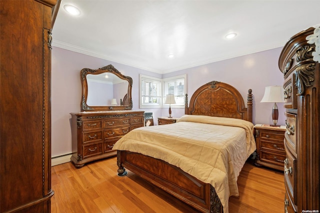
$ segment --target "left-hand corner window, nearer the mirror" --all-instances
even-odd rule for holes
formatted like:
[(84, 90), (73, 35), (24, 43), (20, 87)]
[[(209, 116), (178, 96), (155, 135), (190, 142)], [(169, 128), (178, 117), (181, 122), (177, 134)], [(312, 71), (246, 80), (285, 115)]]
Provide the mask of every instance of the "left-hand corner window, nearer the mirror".
[(140, 74), (140, 108), (161, 107), (161, 79)]

